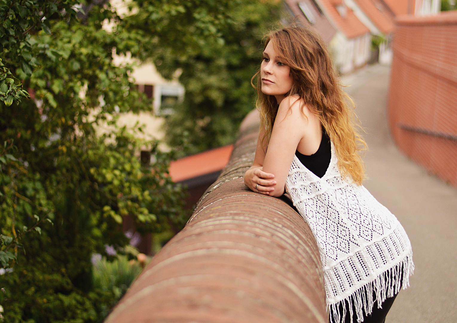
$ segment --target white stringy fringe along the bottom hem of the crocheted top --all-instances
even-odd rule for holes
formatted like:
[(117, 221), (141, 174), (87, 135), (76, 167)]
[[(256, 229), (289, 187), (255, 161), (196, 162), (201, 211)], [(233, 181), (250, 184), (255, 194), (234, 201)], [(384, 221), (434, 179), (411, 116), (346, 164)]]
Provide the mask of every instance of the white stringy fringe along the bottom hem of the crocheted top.
[[(347, 314), (351, 315), (352, 322), (354, 308), (356, 309), (357, 322), (362, 322), (363, 312), (370, 314), (373, 311), (375, 301), (378, 301), (379, 307), (386, 298), (397, 294), (401, 286), (406, 289), (409, 286), (409, 276), (414, 271), (412, 257), (411, 250), (402, 261), (377, 276), (372, 282), (363, 285), (350, 296), (335, 304), (327, 304), (327, 307), (330, 308), (330, 323), (344, 322)], [(373, 293), (376, 297), (373, 297)], [(346, 303), (349, 304), (349, 313), (346, 311)], [(343, 309), (342, 313), (340, 313), (340, 307)]]

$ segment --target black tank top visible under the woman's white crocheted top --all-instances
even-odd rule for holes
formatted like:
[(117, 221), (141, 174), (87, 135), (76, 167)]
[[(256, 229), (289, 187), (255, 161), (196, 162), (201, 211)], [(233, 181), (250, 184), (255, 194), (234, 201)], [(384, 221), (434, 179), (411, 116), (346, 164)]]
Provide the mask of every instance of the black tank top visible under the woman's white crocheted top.
[(302, 162), (303, 166), (314, 172), (316, 176), (322, 178), (329, 168), (330, 158), (332, 156), (330, 138), (324, 127), (322, 127), (322, 140), (318, 150), (313, 155), (303, 155), (295, 151), (295, 156)]

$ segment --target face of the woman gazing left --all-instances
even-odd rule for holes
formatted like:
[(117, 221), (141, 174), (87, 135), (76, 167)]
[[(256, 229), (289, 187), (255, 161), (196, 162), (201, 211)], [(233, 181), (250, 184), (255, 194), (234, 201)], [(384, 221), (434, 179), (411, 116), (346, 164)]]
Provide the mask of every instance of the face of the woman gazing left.
[(274, 95), (278, 104), (292, 87), (290, 68), (276, 57), (271, 41), (268, 42), (263, 51), (260, 78), (262, 79), (262, 93)]

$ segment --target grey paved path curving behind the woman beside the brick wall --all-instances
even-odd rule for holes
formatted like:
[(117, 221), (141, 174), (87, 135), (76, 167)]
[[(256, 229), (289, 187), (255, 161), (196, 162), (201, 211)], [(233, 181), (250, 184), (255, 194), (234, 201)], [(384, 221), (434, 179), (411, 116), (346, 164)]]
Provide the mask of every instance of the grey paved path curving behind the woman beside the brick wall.
[(413, 246), (414, 275), (387, 323), (457, 323), (457, 189), (404, 156), (386, 119), (389, 68), (371, 65), (342, 79), (367, 131), (365, 187), (397, 216)]

